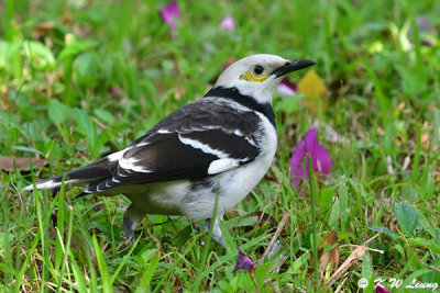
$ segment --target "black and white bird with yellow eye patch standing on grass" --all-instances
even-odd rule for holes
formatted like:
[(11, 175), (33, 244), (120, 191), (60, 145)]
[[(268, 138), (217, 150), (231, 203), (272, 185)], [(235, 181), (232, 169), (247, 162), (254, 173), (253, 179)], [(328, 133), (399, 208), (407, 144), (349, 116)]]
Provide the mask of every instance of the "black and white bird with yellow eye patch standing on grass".
[[(256, 54), (221, 72), (201, 98), (175, 110), (122, 150), (24, 188), (82, 188), (80, 195), (123, 194), (125, 238), (146, 214), (186, 215), (211, 225), (224, 247), (221, 221), (261, 181), (277, 148), (273, 95), (289, 72), (315, 65)], [(211, 222), (212, 221), (212, 222)]]

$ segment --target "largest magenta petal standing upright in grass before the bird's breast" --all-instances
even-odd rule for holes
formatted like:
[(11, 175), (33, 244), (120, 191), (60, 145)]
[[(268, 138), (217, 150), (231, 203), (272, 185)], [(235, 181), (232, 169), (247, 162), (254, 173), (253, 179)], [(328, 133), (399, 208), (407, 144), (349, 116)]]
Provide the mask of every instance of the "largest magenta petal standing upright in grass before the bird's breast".
[(329, 153), (318, 143), (318, 127), (314, 127), (296, 144), (290, 157), (290, 169), (294, 174), (294, 185), (298, 187), (302, 179), (308, 179), (307, 155), (310, 154), (311, 167), (315, 172), (328, 174), (333, 161)]

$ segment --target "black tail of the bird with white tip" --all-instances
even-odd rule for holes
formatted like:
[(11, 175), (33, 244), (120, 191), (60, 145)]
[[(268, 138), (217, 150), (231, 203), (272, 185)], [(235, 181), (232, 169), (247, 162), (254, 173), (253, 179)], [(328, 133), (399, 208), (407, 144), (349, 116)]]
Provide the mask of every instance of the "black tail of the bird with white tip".
[(54, 176), (48, 179), (41, 180), (38, 182), (31, 185), (25, 187), (23, 190), (33, 190), (36, 189), (54, 189), (58, 188), (63, 183), (65, 184), (78, 184), (78, 185), (88, 185), (90, 183), (99, 182), (106, 178), (109, 178), (113, 173), (113, 164), (107, 158), (102, 158), (96, 162), (92, 162), (88, 166), (75, 169), (67, 173), (62, 173)]

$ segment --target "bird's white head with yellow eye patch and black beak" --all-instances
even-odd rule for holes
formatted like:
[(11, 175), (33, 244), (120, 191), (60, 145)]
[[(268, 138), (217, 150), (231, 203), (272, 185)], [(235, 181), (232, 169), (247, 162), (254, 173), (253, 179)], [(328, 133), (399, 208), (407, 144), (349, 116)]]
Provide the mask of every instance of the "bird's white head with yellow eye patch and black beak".
[(251, 95), (258, 103), (272, 103), (275, 89), (285, 75), (315, 64), (270, 54), (251, 55), (229, 66), (213, 88), (237, 88), (241, 94)]

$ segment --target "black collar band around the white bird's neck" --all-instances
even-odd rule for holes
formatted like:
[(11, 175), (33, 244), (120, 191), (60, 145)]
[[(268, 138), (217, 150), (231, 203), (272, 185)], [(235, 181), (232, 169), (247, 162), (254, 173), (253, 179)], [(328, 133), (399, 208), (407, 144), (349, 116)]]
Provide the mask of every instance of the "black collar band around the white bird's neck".
[(256, 102), (255, 99), (251, 95), (241, 94), (237, 88), (212, 88), (207, 92), (207, 94), (205, 94), (205, 97), (219, 97), (238, 102), (241, 105), (244, 105), (265, 115), (271, 124), (274, 125), (274, 127), (276, 128), (275, 114), (272, 105), (270, 103), (261, 104)]

